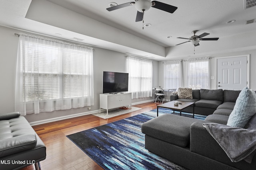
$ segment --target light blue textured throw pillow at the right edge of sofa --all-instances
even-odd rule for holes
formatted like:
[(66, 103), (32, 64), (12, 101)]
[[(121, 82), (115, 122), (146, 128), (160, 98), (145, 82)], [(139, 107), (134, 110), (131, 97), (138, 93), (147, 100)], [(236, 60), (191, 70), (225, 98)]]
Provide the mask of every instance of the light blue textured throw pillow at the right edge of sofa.
[(245, 87), (239, 94), (233, 111), (228, 118), (228, 126), (242, 127), (256, 113), (256, 93)]

